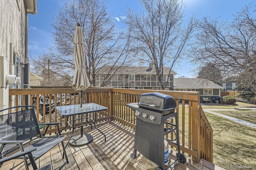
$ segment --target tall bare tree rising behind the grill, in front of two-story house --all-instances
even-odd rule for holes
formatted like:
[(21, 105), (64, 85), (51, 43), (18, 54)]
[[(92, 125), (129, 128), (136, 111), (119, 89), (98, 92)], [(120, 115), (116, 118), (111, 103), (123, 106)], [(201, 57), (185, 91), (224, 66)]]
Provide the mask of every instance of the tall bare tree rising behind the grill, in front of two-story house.
[(133, 49), (142, 63), (153, 63), (160, 89), (164, 67), (172, 68), (185, 55), (184, 49), (196, 24), (194, 17), (183, 24), (184, 4), (179, 0), (139, 0), (142, 11), (128, 8), (125, 24), (131, 32)]

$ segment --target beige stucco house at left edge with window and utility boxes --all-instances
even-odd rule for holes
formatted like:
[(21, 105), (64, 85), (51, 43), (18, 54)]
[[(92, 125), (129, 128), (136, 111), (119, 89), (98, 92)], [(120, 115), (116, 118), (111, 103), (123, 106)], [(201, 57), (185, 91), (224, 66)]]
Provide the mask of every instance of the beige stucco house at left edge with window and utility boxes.
[(36, 14), (36, 4), (37, 0), (0, 3), (0, 109), (9, 106), (10, 88), (29, 87), (28, 14)]

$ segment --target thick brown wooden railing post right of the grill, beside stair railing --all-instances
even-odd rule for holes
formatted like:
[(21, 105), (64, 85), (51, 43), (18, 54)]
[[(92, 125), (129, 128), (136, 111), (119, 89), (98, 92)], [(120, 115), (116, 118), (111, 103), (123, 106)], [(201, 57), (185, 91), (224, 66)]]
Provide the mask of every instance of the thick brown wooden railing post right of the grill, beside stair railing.
[[(198, 101), (200, 101), (200, 95), (198, 95)], [(198, 101), (192, 101), (192, 150), (197, 151), (197, 157), (192, 156), (192, 160), (195, 162), (200, 161), (200, 115)]]

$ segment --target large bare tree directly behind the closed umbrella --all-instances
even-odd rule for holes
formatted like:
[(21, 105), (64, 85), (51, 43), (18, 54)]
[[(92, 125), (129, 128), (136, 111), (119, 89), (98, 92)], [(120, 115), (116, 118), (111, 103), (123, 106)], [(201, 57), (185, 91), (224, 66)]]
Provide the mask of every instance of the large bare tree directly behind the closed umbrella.
[[(104, 0), (66, 0), (60, 10), (52, 15), (54, 44), (41, 57), (61, 68), (54, 75), (74, 73), (74, 33), (80, 23), (85, 40), (86, 72), (92, 85), (98, 76), (98, 68), (123, 65), (128, 59), (128, 34), (116, 30), (115, 19), (106, 9)], [(54, 70), (52, 70), (54, 71)], [(108, 76), (116, 70), (109, 69)], [(106, 85), (110, 78), (106, 78)]]

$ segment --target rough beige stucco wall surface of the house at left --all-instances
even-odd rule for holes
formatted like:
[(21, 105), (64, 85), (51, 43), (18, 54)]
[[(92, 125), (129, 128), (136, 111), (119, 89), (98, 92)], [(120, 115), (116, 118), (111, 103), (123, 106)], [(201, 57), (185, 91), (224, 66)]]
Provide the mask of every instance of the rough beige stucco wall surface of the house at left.
[(12, 61), (10, 43), (20, 61), (25, 57), (26, 12), (24, 0), (18, 1), (20, 11), (16, 0), (4, 0), (0, 3), (0, 56), (6, 57), (9, 61)]

